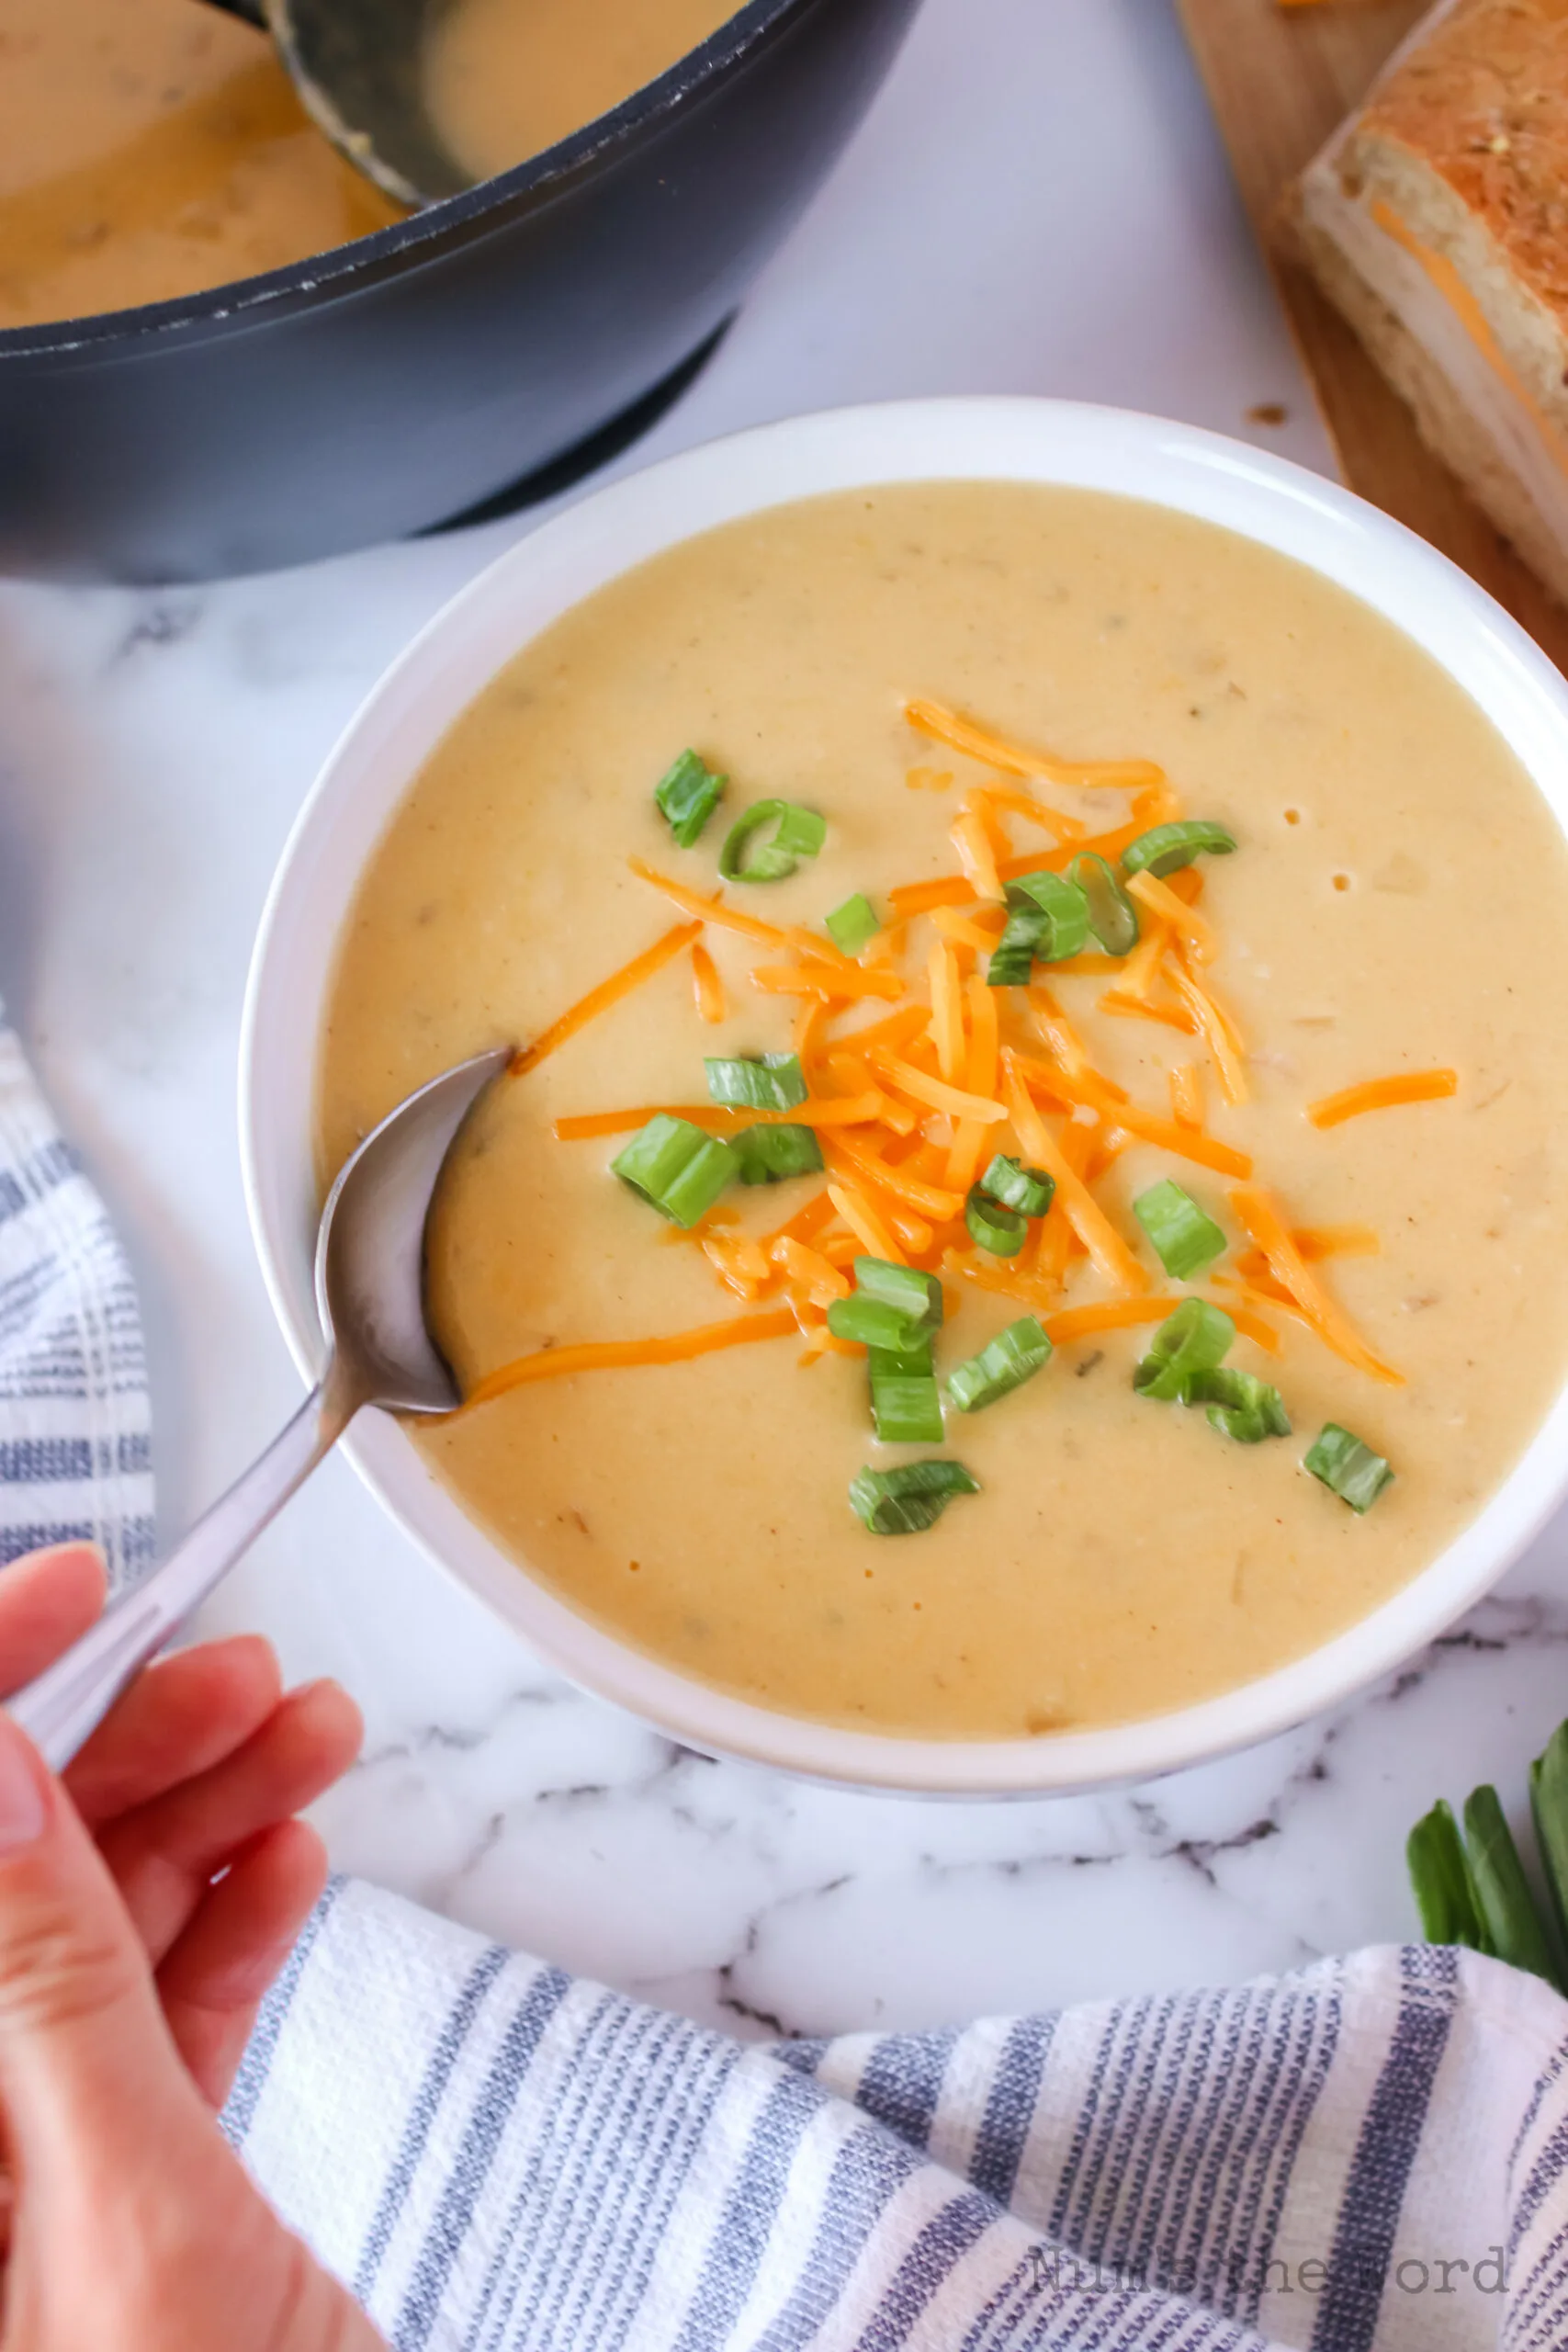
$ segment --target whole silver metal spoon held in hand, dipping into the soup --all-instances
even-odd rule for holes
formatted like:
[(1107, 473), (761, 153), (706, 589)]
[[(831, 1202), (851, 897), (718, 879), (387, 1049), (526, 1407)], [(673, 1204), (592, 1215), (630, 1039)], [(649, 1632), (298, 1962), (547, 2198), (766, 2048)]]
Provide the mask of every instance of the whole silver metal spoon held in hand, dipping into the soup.
[(162, 1566), (5, 1700), (54, 1771), (228, 1576), (364, 1404), (388, 1414), (449, 1414), (461, 1404), (425, 1322), (425, 1218), (458, 1127), (508, 1061), (510, 1049), (496, 1047), (433, 1077), (343, 1167), (315, 1237), (315, 1303), (327, 1336), (322, 1378), (261, 1461), (195, 1522)]

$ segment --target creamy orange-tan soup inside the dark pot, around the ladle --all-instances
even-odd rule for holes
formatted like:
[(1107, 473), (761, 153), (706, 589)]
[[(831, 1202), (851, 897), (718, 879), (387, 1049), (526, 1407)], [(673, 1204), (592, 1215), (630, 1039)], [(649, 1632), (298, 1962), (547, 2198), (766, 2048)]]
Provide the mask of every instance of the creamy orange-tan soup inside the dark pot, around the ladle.
[[(651, 82), (729, 0), (454, 0), (421, 59), (475, 179)], [(205, 0), (0, 0), (0, 329), (174, 301), (402, 219), (266, 33)]]

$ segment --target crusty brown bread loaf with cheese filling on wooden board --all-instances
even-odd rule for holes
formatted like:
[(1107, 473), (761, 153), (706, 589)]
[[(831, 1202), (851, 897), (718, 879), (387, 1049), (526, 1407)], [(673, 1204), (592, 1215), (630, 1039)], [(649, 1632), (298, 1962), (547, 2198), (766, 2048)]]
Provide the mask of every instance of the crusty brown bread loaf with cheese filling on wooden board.
[(1293, 214), (1422, 437), (1568, 604), (1568, 0), (1443, 0)]

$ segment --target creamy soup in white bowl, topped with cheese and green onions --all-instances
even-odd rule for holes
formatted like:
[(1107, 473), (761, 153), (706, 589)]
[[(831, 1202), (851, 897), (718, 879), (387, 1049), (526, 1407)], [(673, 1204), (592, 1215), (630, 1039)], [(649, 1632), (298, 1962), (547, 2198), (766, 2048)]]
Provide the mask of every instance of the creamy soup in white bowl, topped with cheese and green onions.
[(1537, 1428), (1566, 922), (1521, 767), (1314, 574), (1100, 494), (830, 496), (458, 720), (346, 924), (320, 1176), (515, 1042), (430, 1235), (470, 1402), (411, 1435), (520, 1573), (764, 1708), (1124, 1722), (1361, 1618)]

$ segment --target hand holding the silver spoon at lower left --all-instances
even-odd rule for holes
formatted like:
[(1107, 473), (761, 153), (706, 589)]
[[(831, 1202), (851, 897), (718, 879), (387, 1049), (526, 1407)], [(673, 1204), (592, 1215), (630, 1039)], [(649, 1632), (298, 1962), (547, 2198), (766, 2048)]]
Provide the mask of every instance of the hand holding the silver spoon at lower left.
[[(0, 1689), (99, 1613), (89, 1545), (0, 1573)], [(371, 2352), (223, 2140), (256, 2004), (320, 1893), (294, 1811), (353, 1762), (334, 1684), (263, 1642), (148, 1668), (54, 1780), (0, 1717), (0, 2352)]]

